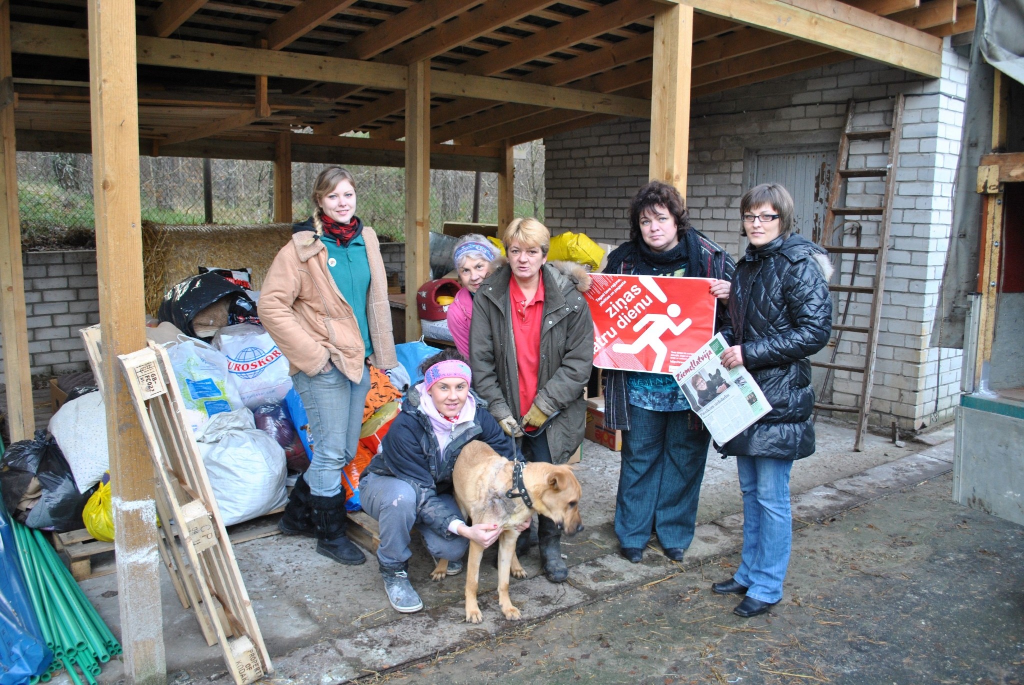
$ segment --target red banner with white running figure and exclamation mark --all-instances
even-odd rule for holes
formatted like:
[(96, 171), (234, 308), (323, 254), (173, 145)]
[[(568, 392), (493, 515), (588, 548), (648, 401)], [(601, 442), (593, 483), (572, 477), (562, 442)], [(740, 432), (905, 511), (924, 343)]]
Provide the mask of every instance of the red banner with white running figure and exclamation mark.
[(591, 279), (595, 367), (670, 374), (715, 335), (711, 279)]

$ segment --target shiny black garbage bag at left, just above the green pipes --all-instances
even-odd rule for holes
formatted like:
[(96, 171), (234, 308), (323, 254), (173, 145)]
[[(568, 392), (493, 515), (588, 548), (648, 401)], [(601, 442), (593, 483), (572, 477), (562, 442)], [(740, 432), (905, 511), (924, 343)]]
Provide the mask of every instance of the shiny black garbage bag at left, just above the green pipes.
[(92, 491), (78, 491), (63, 453), (44, 430), (37, 430), (34, 440), (10, 444), (0, 459), (4, 508), (30, 528), (60, 532), (84, 528), (82, 510)]

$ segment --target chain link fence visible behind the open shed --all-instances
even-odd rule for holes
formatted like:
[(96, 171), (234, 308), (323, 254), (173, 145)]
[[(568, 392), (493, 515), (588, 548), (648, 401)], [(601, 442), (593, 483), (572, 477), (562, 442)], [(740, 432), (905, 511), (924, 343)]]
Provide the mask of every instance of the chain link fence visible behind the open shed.
[[(515, 212), (544, 218), (544, 144), (516, 148)], [(213, 221), (222, 224), (268, 223), (273, 217), (273, 165), (270, 162), (211, 160)], [(324, 165), (292, 165), (292, 213), (309, 215), (313, 181)], [(358, 214), (382, 236), (404, 236), (406, 172), (391, 167), (350, 166), (358, 194)], [(498, 219), (498, 175), (480, 175), (479, 221)], [(28, 246), (45, 245), (68, 233), (93, 230), (92, 156), (67, 153), (17, 154), (18, 209)], [(142, 220), (196, 224), (206, 220), (203, 160), (139, 159)], [(430, 226), (470, 221), (475, 174), (430, 172)]]

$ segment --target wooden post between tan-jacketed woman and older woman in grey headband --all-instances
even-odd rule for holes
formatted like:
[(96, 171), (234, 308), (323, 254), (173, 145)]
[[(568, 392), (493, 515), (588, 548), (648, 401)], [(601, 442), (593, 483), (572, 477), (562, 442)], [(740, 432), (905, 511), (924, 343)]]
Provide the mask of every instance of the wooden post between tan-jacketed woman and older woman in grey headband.
[(430, 277), (430, 60), (409, 66), (406, 88), (406, 340), (420, 337), (416, 289)]

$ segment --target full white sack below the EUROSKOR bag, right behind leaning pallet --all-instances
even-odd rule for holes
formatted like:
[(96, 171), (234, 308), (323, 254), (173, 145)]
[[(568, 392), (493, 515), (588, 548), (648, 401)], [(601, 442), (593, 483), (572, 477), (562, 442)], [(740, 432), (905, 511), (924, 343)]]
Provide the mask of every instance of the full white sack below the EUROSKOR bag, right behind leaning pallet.
[(243, 406), (213, 416), (196, 439), (224, 525), (285, 506), (285, 451), (256, 428), (250, 410)]

